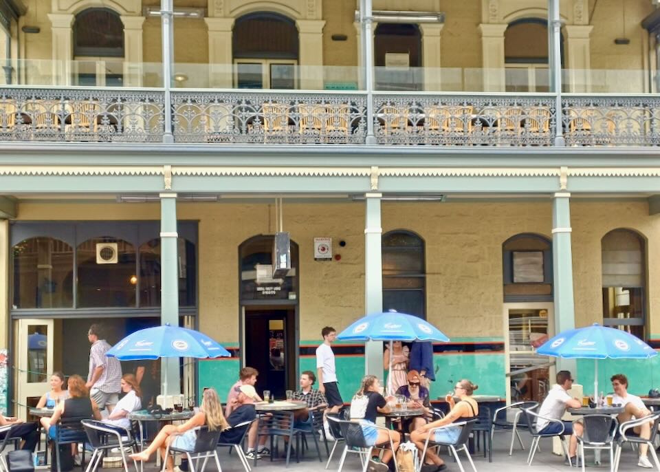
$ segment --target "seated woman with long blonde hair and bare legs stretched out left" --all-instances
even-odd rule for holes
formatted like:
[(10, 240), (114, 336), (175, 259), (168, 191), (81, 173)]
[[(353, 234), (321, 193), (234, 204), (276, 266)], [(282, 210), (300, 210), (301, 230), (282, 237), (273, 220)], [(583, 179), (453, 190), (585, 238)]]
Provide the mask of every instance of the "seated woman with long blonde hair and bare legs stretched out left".
[[(190, 418), (190, 420), (186, 421), (183, 425), (165, 425), (154, 438), (153, 442), (149, 444), (148, 448), (140, 453), (131, 454), (129, 457), (133, 460), (146, 461), (149, 460), (151, 454), (153, 454), (156, 449), (159, 449), (160, 454), (164, 459), (168, 444), (177, 449), (192, 451), (195, 449), (195, 442), (197, 440), (195, 428), (201, 426), (208, 426), (209, 431), (215, 431), (217, 429), (223, 431), (228, 428), (228, 423), (227, 420), (225, 420), (225, 416), (222, 414), (222, 405), (215, 389), (210, 388), (204, 390), (199, 413), (195, 414), (195, 416)], [(167, 472), (172, 472), (173, 469), (174, 461), (170, 456), (167, 458), (167, 467), (165, 470)]]

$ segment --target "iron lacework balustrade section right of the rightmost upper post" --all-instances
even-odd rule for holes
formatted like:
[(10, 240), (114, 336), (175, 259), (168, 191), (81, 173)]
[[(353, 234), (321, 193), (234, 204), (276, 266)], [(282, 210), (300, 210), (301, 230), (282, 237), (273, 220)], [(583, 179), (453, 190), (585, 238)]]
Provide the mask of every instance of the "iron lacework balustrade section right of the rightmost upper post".
[(660, 145), (657, 96), (566, 96), (562, 108), (566, 145)]

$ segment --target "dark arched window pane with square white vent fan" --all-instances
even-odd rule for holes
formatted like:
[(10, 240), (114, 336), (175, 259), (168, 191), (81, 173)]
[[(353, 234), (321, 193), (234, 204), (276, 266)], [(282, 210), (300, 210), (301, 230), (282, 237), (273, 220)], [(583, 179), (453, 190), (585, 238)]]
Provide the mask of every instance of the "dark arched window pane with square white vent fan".
[(78, 246), (76, 257), (78, 307), (135, 306), (137, 266), (133, 244), (113, 237), (88, 239)]

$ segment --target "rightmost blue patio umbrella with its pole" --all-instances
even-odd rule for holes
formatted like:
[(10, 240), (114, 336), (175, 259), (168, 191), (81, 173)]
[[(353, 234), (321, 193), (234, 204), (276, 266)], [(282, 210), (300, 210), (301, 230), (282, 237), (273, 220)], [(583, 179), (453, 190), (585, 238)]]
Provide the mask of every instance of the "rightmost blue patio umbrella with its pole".
[(598, 394), (598, 359), (643, 359), (658, 354), (637, 336), (598, 323), (560, 332), (536, 352), (543, 356), (595, 359), (594, 396)]

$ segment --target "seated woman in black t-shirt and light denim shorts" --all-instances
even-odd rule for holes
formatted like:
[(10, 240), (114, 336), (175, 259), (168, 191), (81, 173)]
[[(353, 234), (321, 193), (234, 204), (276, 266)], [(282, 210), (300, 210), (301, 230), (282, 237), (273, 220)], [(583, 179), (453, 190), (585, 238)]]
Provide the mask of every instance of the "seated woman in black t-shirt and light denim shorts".
[[(380, 462), (369, 460), (369, 471), (373, 472), (388, 472), (388, 462), (393, 458), (393, 455), (399, 449), (399, 442), (401, 442), (401, 435), (397, 431), (389, 429), (376, 428), (376, 415), (379, 413), (390, 413), (392, 408), (387, 404), (387, 400), (379, 393), (380, 382), (374, 375), (367, 375), (362, 378), (362, 386), (356, 396), (361, 397), (363, 394), (369, 398), (364, 411), (364, 419), (360, 420), (362, 427), (362, 434), (366, 444), (370, 446), (378, 446), (380, 444), (390, 444), (392, 441), (393, 450), (385, 449), (383, 457)], [(388, 397), (393, 400), (393, 397)]]

